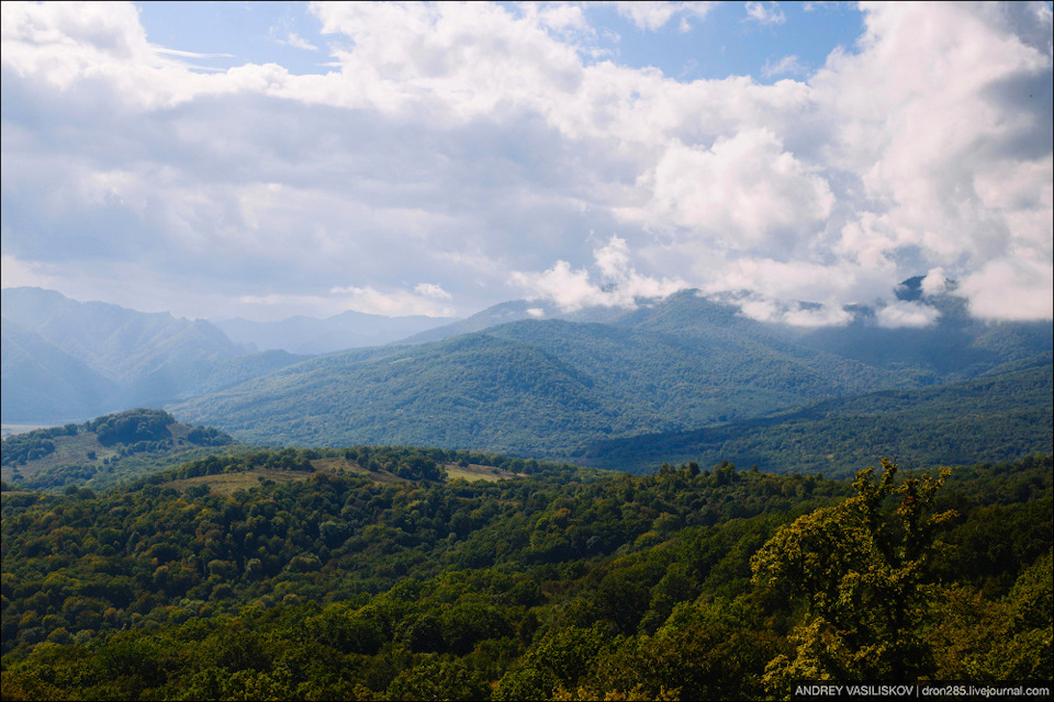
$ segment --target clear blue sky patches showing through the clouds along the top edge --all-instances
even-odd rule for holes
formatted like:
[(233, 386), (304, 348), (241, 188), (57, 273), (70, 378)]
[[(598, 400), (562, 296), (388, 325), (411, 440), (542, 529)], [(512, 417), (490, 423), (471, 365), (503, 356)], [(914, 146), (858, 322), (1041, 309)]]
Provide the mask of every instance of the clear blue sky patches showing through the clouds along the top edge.
[[(518, 3), (501, 4), (519, 14)], [(614, 3), (584, 5), (596, 31), (594, 60), (651, 66), (677, 80), (739, 75), (772, 82), (786, 75), (767, 71), (787, 57), (797, 59), (793, 73), (815, 70), (836, 47), (851, 48), (863, 30), (863, 15), (849, 2), (695, 4), (706, 7), (702, 18), (680, 12), (653, 30), (638, 26)], [(203, 68), (273, 61), (294, 73), (325, 73), (333, 68), (326, 46), (341, 42), (321, 33), (319, 22), (304, 2), (139, 2), (137, 7), (150, 42), (208, 55), (194, 61)], [(765, 19), (759, 19), (755, 8)]]

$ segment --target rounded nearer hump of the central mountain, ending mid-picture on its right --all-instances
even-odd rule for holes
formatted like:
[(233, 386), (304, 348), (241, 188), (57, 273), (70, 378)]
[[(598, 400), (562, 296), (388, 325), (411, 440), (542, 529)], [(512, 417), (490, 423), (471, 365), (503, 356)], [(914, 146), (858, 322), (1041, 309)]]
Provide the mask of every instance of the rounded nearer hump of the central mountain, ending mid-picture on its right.
[[(313, 359), (172, 408), (270, 442), (416, 443), (546, 454), (631, 430), (609, 388), (528, 344), (486, 335)], [(663, 426), (655, 414), (644, 426)], [(198, 421), (193, 419), (193, 421)]]

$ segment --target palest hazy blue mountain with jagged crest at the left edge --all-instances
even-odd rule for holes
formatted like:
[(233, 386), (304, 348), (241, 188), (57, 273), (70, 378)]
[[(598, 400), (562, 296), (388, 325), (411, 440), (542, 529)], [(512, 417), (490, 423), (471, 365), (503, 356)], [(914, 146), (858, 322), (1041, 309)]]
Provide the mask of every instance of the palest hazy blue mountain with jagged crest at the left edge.
[(32, 287), (4, 288), (2, 301), (4, 422), (156, 407), (303, 359), (254, 354), (205, 320), (168, 313), (80, 303)]

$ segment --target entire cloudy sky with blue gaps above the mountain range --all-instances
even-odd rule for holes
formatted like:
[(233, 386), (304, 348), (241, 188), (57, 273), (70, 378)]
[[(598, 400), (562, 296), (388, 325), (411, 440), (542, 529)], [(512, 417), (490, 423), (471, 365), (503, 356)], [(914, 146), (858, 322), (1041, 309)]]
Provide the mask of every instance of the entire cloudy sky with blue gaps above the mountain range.
[(1051, 319), (1051, 2), (3, 2), (2, 284)]

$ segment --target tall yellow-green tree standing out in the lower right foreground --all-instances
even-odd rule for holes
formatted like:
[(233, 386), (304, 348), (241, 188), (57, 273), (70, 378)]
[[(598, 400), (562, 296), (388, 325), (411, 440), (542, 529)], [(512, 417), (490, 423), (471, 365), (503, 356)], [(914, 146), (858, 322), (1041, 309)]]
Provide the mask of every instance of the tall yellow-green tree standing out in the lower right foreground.
[[(855, 497), (781, 528), (751, 559), (755, 585), (806, 604), (795, 659), (766, 668), (774, 689), (794, 679), (908, 680), (929, 666), (922, 586), (933, 533), (955, 514), (932, 513), (948, 474), (897, 485), (897, 466), (883, 458), (882, 467), (877, 482), (874, 468), (857, 473)], [(896, 510), (887, 498), (899, 498)]]

